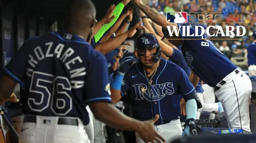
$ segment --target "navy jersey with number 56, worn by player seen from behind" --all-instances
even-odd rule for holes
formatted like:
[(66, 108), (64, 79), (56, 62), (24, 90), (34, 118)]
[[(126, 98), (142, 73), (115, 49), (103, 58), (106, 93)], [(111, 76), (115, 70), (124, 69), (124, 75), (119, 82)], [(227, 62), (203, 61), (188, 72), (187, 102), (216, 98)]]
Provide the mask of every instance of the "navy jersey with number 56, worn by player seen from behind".
[(51, 32), (26, 41), (5, 72), (25, 81), (25, 114), (72, 116), (86, 125), (88, 104), (111, 102), (106, 58), (74, 34)]

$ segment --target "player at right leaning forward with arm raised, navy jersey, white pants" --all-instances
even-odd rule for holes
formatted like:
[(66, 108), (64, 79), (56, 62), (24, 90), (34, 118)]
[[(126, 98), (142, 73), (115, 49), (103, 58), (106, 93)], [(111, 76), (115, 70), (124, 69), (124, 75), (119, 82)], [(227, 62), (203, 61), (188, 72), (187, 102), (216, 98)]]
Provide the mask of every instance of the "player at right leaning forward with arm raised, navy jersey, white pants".
[[(142, 4), (141, 0), (133, 0), (147, 17), (162, 27), (169, 42), (181, 50), (190, 69), (197, 75), (193, 76), (192, 83), (197, 83), (199, 78), (211, 87), (216, 88), (216, 96), (226, 114), (230, 129), (242, 128), (243, 133), (251, 134), (249, 117), (249, 100), (252, 85), (249, 76), (222, 54), (211, 41), (203, 36), (182, 36), (181, 24), (168, 23), (166, 17), (159, 12)], [(179, 36), (168, 36), (167, 26), (180, 29)], [(190, 35), (195, 34), (194, 28), (189, 28)], [(174, 40), (171, 40), (174, 38)], [(180, 38), (180, 40), (176, 40)], [(197, 38), (198, 40), (186, 40)]]

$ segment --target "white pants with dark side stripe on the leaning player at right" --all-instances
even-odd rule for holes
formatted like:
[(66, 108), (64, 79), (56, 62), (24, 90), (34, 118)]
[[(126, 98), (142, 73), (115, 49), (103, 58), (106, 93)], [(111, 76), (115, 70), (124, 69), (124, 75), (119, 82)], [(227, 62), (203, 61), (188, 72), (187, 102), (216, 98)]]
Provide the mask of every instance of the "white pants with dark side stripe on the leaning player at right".
[(216, 90), (216, 96), (222, 102), (229, 128), (242, 128), (243, 133), (251, 133), (249, 104), (252, 84), (249, 76), (236, 69), (223, 81), (216, 85), (216, 88), (220, 87)]

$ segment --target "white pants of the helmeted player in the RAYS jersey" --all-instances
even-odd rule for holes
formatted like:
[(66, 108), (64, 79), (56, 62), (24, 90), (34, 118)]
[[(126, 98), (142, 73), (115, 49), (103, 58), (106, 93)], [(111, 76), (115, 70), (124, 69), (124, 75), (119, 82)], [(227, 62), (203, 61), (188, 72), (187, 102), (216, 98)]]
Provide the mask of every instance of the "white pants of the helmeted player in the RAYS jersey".
[[(162, 137), (166, 139), (166, 142), (171, 142), (174, 139), (181, 138), (182, 136), (180, 119), (171, 121), (167, 124), (155, 125), (155, 129)], [(135, 135), (136, 143), (144, 143), (137, 133), (135, 133)]]

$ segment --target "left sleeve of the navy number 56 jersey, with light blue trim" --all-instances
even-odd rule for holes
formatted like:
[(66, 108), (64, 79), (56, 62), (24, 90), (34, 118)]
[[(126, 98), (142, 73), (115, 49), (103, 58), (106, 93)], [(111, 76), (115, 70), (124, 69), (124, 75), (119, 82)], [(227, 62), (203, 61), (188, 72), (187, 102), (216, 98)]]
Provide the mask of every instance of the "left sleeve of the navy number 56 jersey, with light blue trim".
[(26, 64), (28, 57), (28, 41), (26, 41), (18, 53), (10, 60), (4, 68), (4, 74), (9, 76), (16, 83), (21, 83), (26, 73)]

